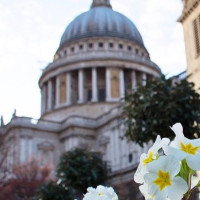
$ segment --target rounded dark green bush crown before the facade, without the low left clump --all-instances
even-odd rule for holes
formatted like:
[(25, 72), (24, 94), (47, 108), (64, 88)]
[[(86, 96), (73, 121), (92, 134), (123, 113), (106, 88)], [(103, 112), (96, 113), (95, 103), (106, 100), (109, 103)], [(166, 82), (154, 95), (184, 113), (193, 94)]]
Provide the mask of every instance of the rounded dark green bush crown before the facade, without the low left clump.
[(65, 187), (84, 194), (88, 187), (105, 183), (107, 170), (99, 153), (75, 149), (61, 156), (57, 177)]

